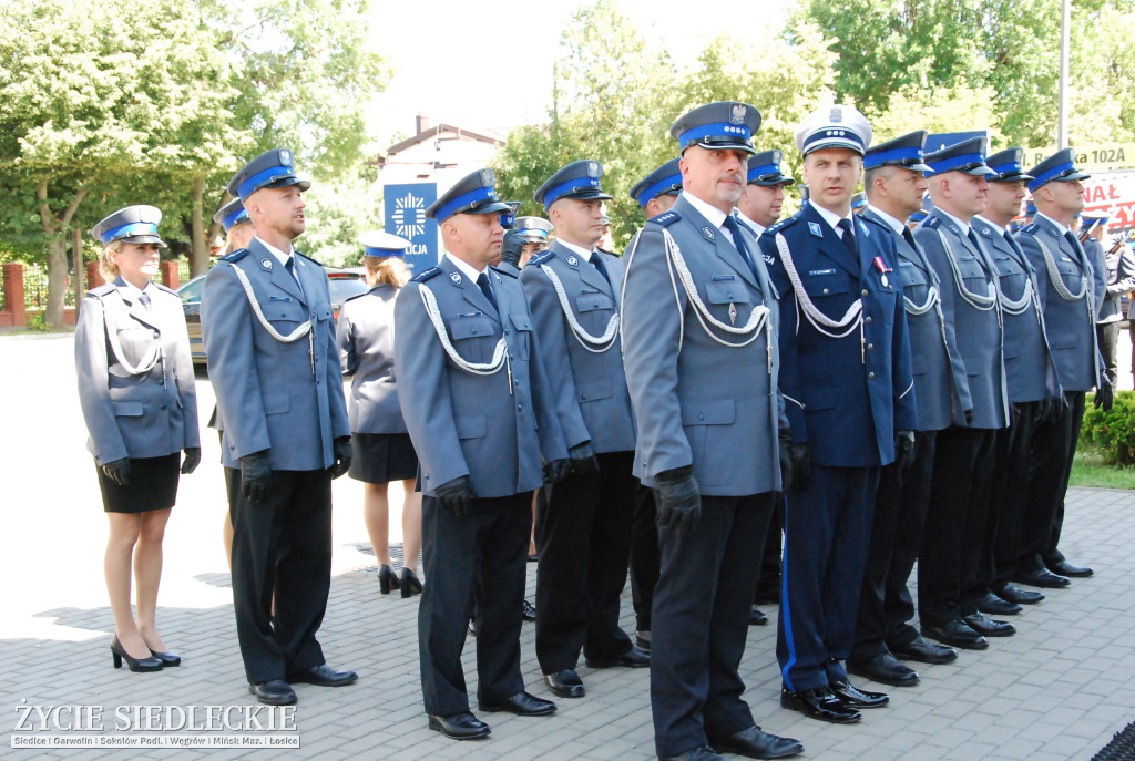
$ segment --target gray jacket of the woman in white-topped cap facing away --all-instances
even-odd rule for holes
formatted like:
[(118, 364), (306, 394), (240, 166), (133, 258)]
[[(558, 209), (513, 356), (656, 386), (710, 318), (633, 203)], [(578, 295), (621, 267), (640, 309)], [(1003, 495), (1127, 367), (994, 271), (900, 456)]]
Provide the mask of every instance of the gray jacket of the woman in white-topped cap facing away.
[(405, 433), (394, 375), (394, 298), (398, 289), (380, 282), (346, 299), (335, 339), (343, 374), (351, 375), (347, 417), (359, 433)]

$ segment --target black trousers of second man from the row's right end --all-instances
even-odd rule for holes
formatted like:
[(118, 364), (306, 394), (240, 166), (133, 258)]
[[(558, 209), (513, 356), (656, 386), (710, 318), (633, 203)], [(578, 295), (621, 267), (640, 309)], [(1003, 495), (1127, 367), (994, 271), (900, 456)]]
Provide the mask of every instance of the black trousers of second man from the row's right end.
[(998, 591), (1016, 574), (1022, 532), (1028, 521), (1033, 439), (1040, 401), (1014, 405), (1009, 428), (997, 432), (990, 514), (975, 594)]

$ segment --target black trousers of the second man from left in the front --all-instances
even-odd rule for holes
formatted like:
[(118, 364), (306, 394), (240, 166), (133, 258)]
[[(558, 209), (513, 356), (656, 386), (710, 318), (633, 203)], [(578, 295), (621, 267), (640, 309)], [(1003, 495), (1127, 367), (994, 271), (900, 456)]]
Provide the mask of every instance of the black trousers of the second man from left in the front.
[(455, 516), (422, 498), (418, 648), (426, 712), (469, 710), (461, 651), (477, 606), (478, 700), (499, 704), (524, 690), (520, 674), (532, 493), (474, 499)]

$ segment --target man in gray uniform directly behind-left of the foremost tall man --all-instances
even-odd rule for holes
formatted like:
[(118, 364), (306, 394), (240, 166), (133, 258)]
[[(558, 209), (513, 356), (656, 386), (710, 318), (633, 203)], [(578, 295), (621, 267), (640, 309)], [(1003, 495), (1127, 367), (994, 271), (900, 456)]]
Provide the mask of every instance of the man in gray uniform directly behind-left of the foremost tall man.
[(520, 276), (572, 462), (547, 487), (537, 538), (536, 657), (562, 697), (583, 696), (580, 650), (592, 668), (650, 662), (619, 627), (638, 482), (619, 340), (623, 262), (596, 248), (611, 200), (602, 177), (598, 161), (574, 161), (537, 188), (556, 239)]

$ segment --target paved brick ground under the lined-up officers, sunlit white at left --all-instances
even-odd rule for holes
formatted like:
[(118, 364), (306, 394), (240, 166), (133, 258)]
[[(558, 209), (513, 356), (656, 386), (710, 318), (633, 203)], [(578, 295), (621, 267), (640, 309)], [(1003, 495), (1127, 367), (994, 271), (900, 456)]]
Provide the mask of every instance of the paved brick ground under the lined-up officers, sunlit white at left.
[[(112, 669), (107, 643), (112, 619), (101, 556), (106, 522), (94, 472), (83, 451), (69, 337), (0, 337), (0, 437), (5, 529), (0, 572), (6, 580), (0, 620), (0, 709), (9, 717), (0, 755), (75, 761), (108, 756), (182, 759), (268, 758), (239, 750), (14, 750), (17, 708), (102, 705), (114, 724), (119, 705), (254, 705), (236, 646), (229, 577), (220, 547), (224, 492), (216, 438), (205, 434), (204, 463), (183, 481), (166, 539), (159, 625), (182, 653), (183, 667), (159, 674)], [(12, 372), (12, 369), (27, 372)], [(31, 369), (53, 367), (53, 372)], [(197, 381), (201, 417), (212, 396)], [(648, 759), (654, 755), (646, 670), (580, 674), (583, 700), (561, 700), (553, 717), (484, 715), (489, 739), (455, 743), (426, 728), (418, 682), (418, 600), (378, 592), (360, 516), (361, 490), (335, 482), (335, 577), (321, 641), (328, 661), (360, 673), (358, 684), (329, 690), (300, 685), (296, 717), (302, 745), (287, 758), (398, 759)], [(394, 522), (396, 523), (396, 522)], [(396, 540), (397, 538), (395, 538)], [(948, 666), (926, 667), (923, 683), (892, 688), (889, 708), (858, 726), (836, 727), (781, 710), (775, 627), (750, 629), (743, 671), (758, 724), (801, 739), (806, 758), (1091, 759), (1135, 719), (1135, 493), (1074, 490), (1062, 548), (1090, 563), (1094, 578), (1057, 590), (1015, 617), (1020, 633), (993, 640), (984, 653), (962, 652)], [(529, 566), (529, 598), (535, 585)], [(775, 615), (774, 610), (767, 612)], [(632, 627), (629, 592), (624, 625)], [(523, 671), (539, 682), (532, 626), (522, 640)], [(466, 674), (476, 690), (473, 645)], [(279, 753), (279, 751), (272, 751)]]

